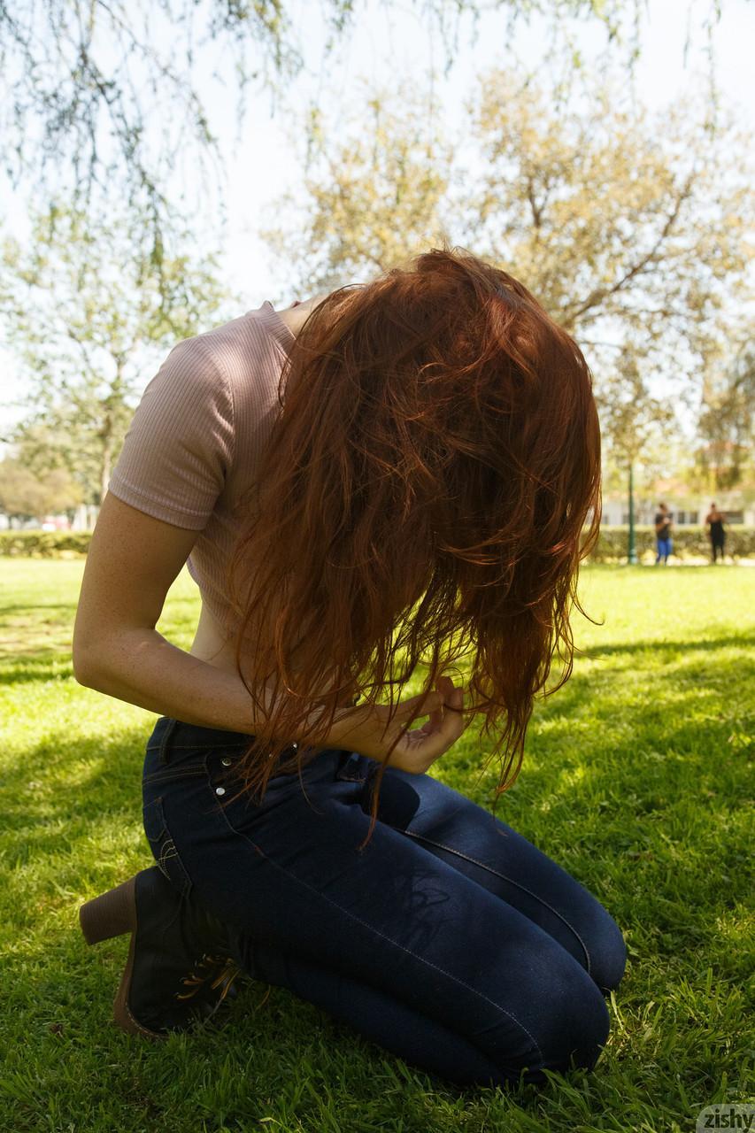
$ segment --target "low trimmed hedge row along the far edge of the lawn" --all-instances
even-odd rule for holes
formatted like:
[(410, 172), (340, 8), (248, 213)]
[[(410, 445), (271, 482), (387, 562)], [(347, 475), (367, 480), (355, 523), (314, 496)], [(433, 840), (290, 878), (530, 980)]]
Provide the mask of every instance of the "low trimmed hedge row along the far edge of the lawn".
[[(637, 556), (654, 554), (655, 531), (637, 527)], [(0, 555), (26, 555), (34, 559), (73, 559), (88, 551), (91, 531), (0, 531)], [(628, 528), (602, 527), (592, 562), (620, 562), (627, 556)], [(681, 528), (673, 533), (673, 553), (679, 559), (710, 556), (707, 535), (699, 528)], [(755, 527), (730, 527), (727, 530), (727, 555), (755, 559)]]

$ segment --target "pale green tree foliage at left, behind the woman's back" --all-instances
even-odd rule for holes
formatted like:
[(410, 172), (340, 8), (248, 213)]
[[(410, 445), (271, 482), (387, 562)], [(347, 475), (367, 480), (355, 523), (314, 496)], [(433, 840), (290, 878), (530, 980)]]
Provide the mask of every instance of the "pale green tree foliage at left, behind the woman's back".
[(33, 218), (28, 247), (6, 240), (0, 301), (27, 390), (10, 441), (37, 479), (66, 469), (86, 503), (104, 497), (145, 374), (228, 299), (188, 242), (155, 259), (143, 215), (60, 203)]

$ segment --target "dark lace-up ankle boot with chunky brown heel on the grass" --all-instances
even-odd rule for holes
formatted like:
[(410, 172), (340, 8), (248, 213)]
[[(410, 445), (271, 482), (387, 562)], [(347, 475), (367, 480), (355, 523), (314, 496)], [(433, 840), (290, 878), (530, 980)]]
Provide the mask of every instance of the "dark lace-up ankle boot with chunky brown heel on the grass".
[(132, 934), (113, 1004), (130, 1034), (166, 1038), (206, 1021), (229, 996), (239, 966), (222, 925), (196, 898), (181, 898), (152, 866), (82, 905), (87, 944)]

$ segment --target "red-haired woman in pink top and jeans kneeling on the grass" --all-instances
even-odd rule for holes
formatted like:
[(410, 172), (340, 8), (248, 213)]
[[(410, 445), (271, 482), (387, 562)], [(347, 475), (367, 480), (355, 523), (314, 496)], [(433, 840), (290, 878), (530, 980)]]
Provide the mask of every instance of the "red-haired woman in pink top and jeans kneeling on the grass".
[[(74, 639), (80, 683), (160, 715), (156, 866), (80, 910), (90, 943), (132, 932), (121, 1026), (186, 1028), (245, 972), (458, 1083), (594, 1064), (617, 926), (427, 770), (475, 715), (512, 781), (551, 658), (570, 668), (599, 502), (579, 348), (467, 252), (173, 348), (110, 480)], [(188, 653), (155, 630), (187, 560)]]

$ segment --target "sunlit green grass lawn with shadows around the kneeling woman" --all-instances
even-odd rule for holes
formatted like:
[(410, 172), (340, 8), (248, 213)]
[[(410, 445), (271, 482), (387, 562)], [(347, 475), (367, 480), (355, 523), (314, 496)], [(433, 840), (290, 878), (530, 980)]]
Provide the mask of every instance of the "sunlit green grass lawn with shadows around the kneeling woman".
[[(127, 938), (87, 948), (77, 910), (152, 863), (155, 717), (74, 681), (82, 570), (0, 560), (3, 1133), (692, 1133), (704, 1106), (752, 1100), (755, 570), (583, 573), (604, 624), (578, 619), (587, 653), (537, 705), (498, 813), (604, 903), (629, 965), (596, 1070), (508, 1093), (449, 1087), (252, 981), (212, 1029), (161, 1045), (117, 1030)], [(187, 647), (196, 615), (183, 572), (160, 628)], [(435, 767), (490, 807), (484, 756), (468, 729)]]

